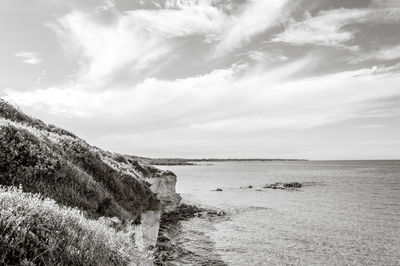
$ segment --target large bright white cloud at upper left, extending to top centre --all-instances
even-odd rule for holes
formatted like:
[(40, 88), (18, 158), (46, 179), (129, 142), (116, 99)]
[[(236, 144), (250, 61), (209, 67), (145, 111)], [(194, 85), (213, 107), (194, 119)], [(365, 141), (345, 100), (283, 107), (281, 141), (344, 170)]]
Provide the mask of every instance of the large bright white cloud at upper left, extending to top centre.
[(179, 37), (212, 38), (224, 24), (223, 14), (207, 2), (114, 16), (107, 23), (75, 10), (49, 25), (64, 50), (80, 58), (79, 82), (105, 86), (123, 71), (137, 75), (171, 54), (182, 42)]

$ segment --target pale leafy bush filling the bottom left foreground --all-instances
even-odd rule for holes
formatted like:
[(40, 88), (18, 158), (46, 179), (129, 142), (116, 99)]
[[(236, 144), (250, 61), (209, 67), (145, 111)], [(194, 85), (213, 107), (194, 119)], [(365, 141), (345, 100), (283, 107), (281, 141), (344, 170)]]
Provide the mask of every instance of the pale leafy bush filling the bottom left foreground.
[(0, 187), (0, 265), (149, 265), (131, 236), (38, 194)]

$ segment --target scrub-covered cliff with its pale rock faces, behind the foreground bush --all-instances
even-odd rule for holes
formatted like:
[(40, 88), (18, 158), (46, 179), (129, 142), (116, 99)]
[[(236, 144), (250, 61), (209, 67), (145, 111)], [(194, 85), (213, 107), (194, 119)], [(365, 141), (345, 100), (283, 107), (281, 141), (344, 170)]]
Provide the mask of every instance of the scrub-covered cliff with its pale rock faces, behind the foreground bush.
[(1, 186), (53, 199), (85, 219), (106, 220), (145, 250), (156, 243), (161, 213), (180, 202), (175, 184), (169, 171), (91, 146), (0, 99)]

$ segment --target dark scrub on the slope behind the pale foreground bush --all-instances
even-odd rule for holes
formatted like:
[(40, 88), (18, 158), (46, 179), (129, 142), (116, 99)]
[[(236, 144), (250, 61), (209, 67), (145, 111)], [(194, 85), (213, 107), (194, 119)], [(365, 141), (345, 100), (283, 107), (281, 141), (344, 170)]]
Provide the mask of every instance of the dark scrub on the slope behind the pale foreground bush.
[[(0, 185), (22, 185), (26, 192), (78, 207), (91, 217), (135, 219), (145, 210), (159, 208), (148, 184), (140, 180), (143, 173), (136, 170), (147, 166), (117, 162), (111, 153), (30, 118), (4, 101), (0, 116), (19, 122), (0, 125)], [(118, 169), (121, 165), (130, 172)]]

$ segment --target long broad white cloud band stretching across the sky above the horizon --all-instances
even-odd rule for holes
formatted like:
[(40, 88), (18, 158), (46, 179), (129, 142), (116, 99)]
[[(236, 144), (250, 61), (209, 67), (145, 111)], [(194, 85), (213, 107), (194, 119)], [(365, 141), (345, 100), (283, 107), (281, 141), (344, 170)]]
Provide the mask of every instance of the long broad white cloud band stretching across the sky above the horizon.
[[(312, 60), (311, 60), (312, 61)], [(154, 132), (195, 128), (207, 132), (304, 129), (365, 117), (400, 115), (400, 76), (387, 68), (365, 68), (293, 79), (310, 64), (305, 58), (273, 70), (245, 66), (172, 81), (146, 79), (126, 90), (85, 91), (76, 86), (18, 92), (6, 99), (107, 130)], [(112, 126), (111, 126), (112, 125)], [(105, 134), (105, 133), (103, 133)], [(220, 134), (220, 133), (218, 133)]]

